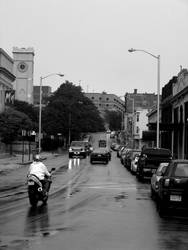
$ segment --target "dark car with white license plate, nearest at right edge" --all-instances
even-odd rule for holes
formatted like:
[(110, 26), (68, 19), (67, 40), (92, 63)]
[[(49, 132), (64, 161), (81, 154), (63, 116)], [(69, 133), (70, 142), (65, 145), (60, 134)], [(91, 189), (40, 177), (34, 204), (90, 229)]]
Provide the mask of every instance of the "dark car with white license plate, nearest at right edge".
[(167, 208), (188, 209), (188, 160), (172, 160), (159, 180), (157, 205), (162, 214)]

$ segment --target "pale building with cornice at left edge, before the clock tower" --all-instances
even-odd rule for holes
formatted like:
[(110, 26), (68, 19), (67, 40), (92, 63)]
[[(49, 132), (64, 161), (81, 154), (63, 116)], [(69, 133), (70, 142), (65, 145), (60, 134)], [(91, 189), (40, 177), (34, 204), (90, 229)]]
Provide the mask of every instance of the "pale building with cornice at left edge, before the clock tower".
[(12, 102), (14, 99), (13, 63), (13, 59), (0, 48), (0, 112), (4, 111), (6, 102)]

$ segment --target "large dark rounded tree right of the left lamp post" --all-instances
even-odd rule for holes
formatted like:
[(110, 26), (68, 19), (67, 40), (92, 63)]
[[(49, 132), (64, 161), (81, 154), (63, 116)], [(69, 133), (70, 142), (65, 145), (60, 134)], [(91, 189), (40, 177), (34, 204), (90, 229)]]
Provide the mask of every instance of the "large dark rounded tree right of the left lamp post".
[(47, 134), (61, 133), (68, 139), (78, 139), (82, 132), (104, 130), (98, 109), (84, 96), (80, 86), (66, 81), (48, 99), (42, 112), (42, 128)]

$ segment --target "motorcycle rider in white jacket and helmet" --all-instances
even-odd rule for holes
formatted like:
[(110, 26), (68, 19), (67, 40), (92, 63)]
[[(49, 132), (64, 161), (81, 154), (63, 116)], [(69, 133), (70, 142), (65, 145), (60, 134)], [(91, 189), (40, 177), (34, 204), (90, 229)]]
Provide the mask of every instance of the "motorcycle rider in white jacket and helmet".
[(35, 177), (37, 177), (42, 183), (43, 190), (45, 192), (49, 192), (51, 184), (51, 174), (44, 163), (41, 161), (41, 156), (39, 154), (36, 154), (33, 157), (33, 162), (29, 167), (27, 176), (29, 175), (34, 175)]

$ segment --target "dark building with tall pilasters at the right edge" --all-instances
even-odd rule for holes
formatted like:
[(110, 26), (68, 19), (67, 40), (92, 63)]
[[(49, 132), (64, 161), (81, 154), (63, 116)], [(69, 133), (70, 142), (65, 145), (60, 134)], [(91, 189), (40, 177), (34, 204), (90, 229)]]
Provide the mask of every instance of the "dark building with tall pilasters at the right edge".
[(162, 89), (161, 145), (188, 159), (188, 70), (181, 69)]

